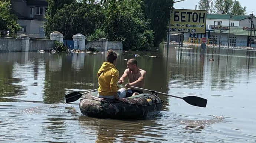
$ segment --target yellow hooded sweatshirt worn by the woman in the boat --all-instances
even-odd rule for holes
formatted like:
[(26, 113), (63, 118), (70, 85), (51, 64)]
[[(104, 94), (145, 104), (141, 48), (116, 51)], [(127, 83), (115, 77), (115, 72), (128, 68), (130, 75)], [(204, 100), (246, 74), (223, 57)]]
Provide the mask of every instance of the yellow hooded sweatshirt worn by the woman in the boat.
[(98, 92), (101, 96), (116, 95), (118, 90), (117, 82), (119, 78), (119, 71), (111, 62), (103, 62), (98, 71)]

